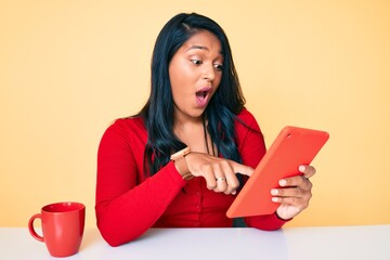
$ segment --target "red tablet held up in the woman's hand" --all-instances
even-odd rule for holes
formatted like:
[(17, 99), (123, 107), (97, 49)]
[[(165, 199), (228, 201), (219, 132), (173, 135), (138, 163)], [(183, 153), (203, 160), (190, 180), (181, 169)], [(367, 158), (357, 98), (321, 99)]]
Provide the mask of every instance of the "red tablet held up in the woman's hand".
[(271, 190), (278, 187), (283, 178), (301, 174), (300, 165), (310, 165), (329, 134), (325, 131), (285, 127), (277, 135), (253, 173), (229, 208), (229, 218), (271, 214), (278, 203), (273, 203)]

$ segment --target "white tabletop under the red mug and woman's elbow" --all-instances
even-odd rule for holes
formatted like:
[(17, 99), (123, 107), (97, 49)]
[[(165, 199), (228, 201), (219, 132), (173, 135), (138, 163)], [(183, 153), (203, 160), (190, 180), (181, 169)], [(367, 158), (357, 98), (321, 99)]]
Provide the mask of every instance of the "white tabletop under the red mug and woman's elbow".
[[(25, 227), (0, 227), (0, 259), (53, 259)], [(153, 229), (138, 240), (108, 246), (87, 229), (69, 260), (390, 259), (390, 224), (338, 227)]]

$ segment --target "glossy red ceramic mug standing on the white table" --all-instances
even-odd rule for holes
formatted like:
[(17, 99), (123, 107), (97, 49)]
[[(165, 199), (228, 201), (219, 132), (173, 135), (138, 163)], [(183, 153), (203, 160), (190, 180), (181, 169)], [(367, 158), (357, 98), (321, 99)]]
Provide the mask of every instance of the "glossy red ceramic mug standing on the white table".
[[(42, 236), (34, 229), (34, 221), (41, 219)], [(86, 206), (80, 203), (56, 203), (44, 206), (28, 221), (34, 238), (43, 242), (53, 257), (68, 257), (78, 252), (83, 235)]]

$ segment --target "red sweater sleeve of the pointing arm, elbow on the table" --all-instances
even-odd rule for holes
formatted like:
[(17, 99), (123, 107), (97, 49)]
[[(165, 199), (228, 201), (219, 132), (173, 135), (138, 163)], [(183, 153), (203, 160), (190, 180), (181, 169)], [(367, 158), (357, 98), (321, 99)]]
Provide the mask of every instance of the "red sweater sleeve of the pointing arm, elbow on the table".
[(98, 227), (112, 246), (147, 231), (185, 185), (172, 161), (139, 183), (144, 143), (136, 139), (136, 131), (115, 122), (99, 146), (95, 213)]

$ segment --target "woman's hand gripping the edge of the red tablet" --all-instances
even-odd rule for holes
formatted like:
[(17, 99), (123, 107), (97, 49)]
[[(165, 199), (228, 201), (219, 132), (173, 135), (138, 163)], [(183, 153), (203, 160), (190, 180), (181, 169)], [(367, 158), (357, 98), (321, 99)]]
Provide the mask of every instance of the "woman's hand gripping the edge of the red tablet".
[(284, 220), (291, 219), (309, 206), (312, 197), (312, 183), (309, 178), (315, 174), (312, 166), (300, 166), (299, 171), (303, 174), (280, 180), (280, 188), (272, 188), (272, 202), (281, 203), (276, 214)]

